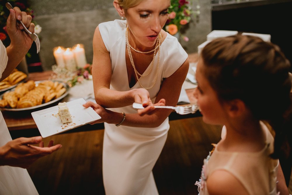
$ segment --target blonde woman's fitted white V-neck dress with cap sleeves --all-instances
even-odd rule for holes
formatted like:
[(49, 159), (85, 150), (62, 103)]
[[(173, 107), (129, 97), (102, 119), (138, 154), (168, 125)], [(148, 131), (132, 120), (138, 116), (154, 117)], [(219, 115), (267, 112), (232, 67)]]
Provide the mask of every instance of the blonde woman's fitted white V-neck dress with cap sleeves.
[[(129, 87), (126, 68), (126, 21), (114, 20), (99, 25), (102, 40), (110, 53), (112, 79), (110, 89), (128, 91), (141, 88), (137, 82)], [(157, 83), (149, 89), (154, 102), (164, 78), (171, 76), (187, 59), (178, 40), (167, 34), (161, 43), (159, 72)], [(148, 76), (141, 77), (143, 86), (152, 85), (158, 57)], [(149, 71), (150, 66), (145, 70)], [(137, 113), (132, 106), (110, 109), (115, 112)], [(151, 121), (150, 121), (151, 122)], [(168, 118), (157, 128), (138, 128), (105, 123), (103, 140), (102, 170), (105, 192), (107, 195), (158, 194), (152, 169), (166, 141), (169, 129)]]

